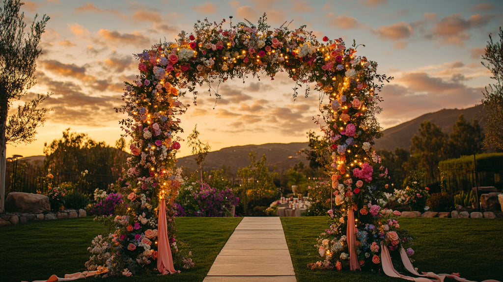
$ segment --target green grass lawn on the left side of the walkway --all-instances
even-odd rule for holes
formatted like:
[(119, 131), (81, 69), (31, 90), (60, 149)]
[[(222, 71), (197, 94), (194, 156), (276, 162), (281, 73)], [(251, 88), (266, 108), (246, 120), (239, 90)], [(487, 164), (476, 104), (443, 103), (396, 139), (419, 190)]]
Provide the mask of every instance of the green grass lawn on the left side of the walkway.
[[(196, 266), (176, 275), (109, 277), (99, 281), (202, 281), (241, 218), (177, 218), (177, 238), (190, 246)], [(0, 281), (47, 279), (84, 271), (91, 240), (104, 226), (92, 217), (34, 222), (0, 229)], [(178, 269), (177, 269), (178, 270)], [(87, 281), (95, 281), (88, 278)]]

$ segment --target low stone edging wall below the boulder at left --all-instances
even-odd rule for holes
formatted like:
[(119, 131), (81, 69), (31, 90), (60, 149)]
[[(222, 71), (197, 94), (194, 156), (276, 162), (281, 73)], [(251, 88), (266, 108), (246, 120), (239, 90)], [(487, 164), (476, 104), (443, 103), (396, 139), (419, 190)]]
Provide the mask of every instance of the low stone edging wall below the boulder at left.
[(5, 213), (0, 214), (0, 227), (11, 224), (26, 224), (32, 221), (39, 220), (56, 220), (56, 219), (67, 219), (67, 218), (77, 218), (86, 217), (86, 210), (64, 210), (57, 213), (47, 213), (47, 214), (24, 214), (24, 213)]

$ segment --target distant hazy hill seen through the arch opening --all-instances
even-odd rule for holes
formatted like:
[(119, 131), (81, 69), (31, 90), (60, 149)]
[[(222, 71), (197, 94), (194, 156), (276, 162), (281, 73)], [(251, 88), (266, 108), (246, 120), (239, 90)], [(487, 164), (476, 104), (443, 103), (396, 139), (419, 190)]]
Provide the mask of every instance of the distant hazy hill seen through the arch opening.
[[(301, 149), (308, 148), (307, 144), (307, 142), (289, 144), (269, 143), (223, 148), (208, 153), (204, 161), (204, 170), (216, 170), (225, 165), (230, 167), (230, 172), (232, 174), (236, 174), (237, 168), (246, 167), (250, 164), (248, 154), (254, 151), (257, 153), (257, 160), (265, 154), (267, 162), (271, 164), (271, 169), (272, 166), (276, 166), (276, 171), (284, 171), (299, 162), (303, 162), (306, 165), (308, 164), (306, 158), (298, 154)], [(199, 169), (194, 160), (194, 156), (179, 158), (177, 165), (186, 166), (191, 170)]]

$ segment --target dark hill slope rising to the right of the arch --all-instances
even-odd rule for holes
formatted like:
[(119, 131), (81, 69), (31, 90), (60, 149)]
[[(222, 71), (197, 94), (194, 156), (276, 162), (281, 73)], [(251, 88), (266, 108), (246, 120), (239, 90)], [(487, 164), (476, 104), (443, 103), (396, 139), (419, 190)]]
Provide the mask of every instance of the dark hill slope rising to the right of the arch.
[[(422, 122), (429, 120), (438, 125), (444, 133), (450, 134), (452, 132), (452, 126), (456, 123), (459, 115), (464, 115), (465, 119), (470, 123), (473, 122), (473, 119), (480, 121), (482, 109), (483, 106), (479, 105), (461, 110), (444, 109), (435, 113), (422, 115), (421, 117), (384, 130), (383, 137), (375, 141), (375, 147), (379, 150), (388, 151), (394, 151), (397, 147), (408, 150), (410, 145), (412, 145), (410, 139), (417, 132)], [(480, 125), (483, 129), (484, 124), (480, 123)]]

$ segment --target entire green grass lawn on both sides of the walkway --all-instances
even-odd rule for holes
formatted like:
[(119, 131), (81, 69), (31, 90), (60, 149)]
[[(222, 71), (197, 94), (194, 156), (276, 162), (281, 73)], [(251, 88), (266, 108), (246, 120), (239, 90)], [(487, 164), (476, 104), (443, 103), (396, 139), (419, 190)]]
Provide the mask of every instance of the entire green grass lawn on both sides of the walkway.
[[(190, 245), (196, 267), (176, 275), (109, 277), (99, 281), (202, 281), (241, 218), (177, 218), (178, 238)], [(403, 281), (352, 271), (312, 271), (319, 259), (313, 247), (326, 217), (281, 218), (297, 281)], [(402, 218), (415, 237), (414, 266), (420, 271), (460, 272), (481, 281), (503, 281), (503, 221)], [(87, 248), (104, 227), (92, 218), (43, 221), (0, 229), (0, 281), (47, 279), (85, 270)], [(96, 281), (88, 278), (87, 281)], [(446, 281), (449, 279), (446, 279)], [(451, 281), (454, 281), (451, 279)]]

